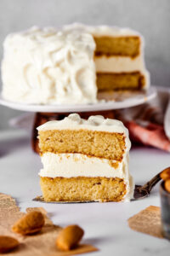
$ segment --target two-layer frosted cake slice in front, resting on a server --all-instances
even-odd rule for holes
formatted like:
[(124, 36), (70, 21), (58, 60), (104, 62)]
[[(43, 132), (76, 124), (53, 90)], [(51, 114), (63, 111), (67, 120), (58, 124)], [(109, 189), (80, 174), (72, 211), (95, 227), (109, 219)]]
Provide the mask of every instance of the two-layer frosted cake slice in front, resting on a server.
[(37, 128), (45, 201), (129, 201), (130, 141), (121, 121), (77, 113)]

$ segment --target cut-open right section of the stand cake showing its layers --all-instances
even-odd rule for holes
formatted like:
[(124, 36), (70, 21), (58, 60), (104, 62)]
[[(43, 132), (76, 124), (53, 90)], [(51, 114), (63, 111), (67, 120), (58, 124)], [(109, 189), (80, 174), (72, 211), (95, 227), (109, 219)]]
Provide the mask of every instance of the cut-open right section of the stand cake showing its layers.
[(150, 75), (144, 65), (144, 39), (139, 32), (113, 26), (72, 24), (65, 31), (85, 31), (96, 44), (94, 61), (98, 90), (144, 90)]

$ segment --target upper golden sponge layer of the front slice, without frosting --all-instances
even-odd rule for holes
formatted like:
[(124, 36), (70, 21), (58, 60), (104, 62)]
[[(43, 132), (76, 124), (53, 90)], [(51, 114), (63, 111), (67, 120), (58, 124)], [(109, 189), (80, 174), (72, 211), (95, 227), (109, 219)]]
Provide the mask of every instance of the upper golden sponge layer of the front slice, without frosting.
[(80, 153), (122, 160), (125, 137), (122, 133), (89, 130), (39, 131), (41, 153)]

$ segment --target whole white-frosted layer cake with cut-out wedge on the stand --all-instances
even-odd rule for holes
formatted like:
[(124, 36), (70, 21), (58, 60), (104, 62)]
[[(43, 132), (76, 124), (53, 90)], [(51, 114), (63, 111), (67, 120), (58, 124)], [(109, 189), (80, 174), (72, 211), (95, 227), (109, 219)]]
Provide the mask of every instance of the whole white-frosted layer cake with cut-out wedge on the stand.
[(9, 34), (3, 44), (3, 98), (31, 104), (98, 101), (97, 92), (146, 90), (143, 40), (130, 29), (64, 26)]

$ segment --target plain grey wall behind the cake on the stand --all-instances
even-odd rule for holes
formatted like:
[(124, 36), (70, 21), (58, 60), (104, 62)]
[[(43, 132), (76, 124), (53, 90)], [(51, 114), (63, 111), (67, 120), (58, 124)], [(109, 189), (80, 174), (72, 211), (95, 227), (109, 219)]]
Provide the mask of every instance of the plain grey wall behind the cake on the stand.
[[(0, 58), (9, 32), (71, 22), (129, 26), (145, 38), (145, 61), (151, 83), (170, 82), (170, 0), (0, 0)], [(0, 129), (20, 114), (0, 107)]]

